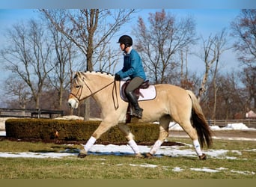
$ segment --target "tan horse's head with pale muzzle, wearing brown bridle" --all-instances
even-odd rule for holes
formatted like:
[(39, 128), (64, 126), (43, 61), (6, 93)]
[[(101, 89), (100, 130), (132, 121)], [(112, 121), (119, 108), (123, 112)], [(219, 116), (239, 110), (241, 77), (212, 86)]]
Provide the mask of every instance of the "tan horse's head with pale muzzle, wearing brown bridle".
[(84, 73), (76, 72), (73, 79), (73, 85), (71, 88), (70, 96), (68, 97), (68, 102), (71, 108), (77, 108), (79, 102), (86, 99), (91, 95), (91, 89), (86, 83), (86, 77)]

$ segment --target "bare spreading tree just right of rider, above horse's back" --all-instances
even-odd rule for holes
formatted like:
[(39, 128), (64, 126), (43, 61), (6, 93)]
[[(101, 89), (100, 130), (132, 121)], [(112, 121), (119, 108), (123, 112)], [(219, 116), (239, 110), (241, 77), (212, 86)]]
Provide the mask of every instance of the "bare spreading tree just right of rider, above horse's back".
[(138, 18), (135, 46), (141, 52), (148, 76), (156, 83), (168, 82), (168, 76), (178, 66), (174, 55), (195, 42), (195, 22), (191, 17), (178, 20), (165, 10), (149, 13), (148, 22)]

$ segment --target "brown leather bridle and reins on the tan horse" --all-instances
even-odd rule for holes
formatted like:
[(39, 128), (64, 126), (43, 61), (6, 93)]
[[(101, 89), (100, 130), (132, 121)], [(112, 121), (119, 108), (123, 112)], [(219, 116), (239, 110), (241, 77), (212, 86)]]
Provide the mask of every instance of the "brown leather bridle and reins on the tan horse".
[[(91, 91), (91, 88), (88, 86), (88, 84), (86, 84), (85, 79), (82, 79), (82, 82), (85, 83), (86, 87), (87, 87), (88, 90), (91, 92), (91, 94), (88, 95), (88, 96), (85, 96), (85, 97), (82, 97), (82, 98), (81, 98), (81, 96), (82, 96), (82, 89), (83, 89), (84, 87), (83, 87), (83, 86), (79, 86), (79, 90), (76, 92), (76, 94), (70, 92), (70, 95), (74, 96), (75, 99), (77, 100), (77, 102), (81, 102), (82, 100), (87, 99), (89, 96), (92, 96), (92, 95), (94, 95), (95, 93), (98, 93), (98, 92), (102, 91), (103, 89), (109, 87), (109, 85), (114, 84), (114, 85), (113, 85), (113, 89), (112, 89), (112, 99), (113, 99), (113, 101), (114, 101), (115, 109), (118, 109), (118, 108), (119, 108), (119, 104), (118, 104), (118, 91), (117, 91), (117, 85), (116, 85), (116, 81), (115, 81), (115, 80), (114, 80), (113, 82), (110, 82), (108, 85), (103, 86), (103, 88), (100, 88), (99, 90), (94, 91), (94, 92)], [(115, 95), (114, 95), (114, 90), (115, 90)], [(79, 96), (78, 96), (78, 95), (79, 95)], [(116, 98), (117, 98), (117, 99), (116, 99), (116, 100), (117, 100), (117, 105), (116, 105), (116, 103), (115, 103), (115, 96), (116, 96)]]

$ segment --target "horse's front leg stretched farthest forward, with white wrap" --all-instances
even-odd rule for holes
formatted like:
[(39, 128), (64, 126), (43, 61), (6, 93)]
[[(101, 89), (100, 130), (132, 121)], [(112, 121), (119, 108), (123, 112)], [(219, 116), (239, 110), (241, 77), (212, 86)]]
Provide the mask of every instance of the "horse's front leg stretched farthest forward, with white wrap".
[(87, 156), (88, 151), (91, 149), (91, 147), (94, 145), (94, 143), (97, 141), (98, 138), (100, 138), (101, 135), (103, 135), (104, 132), (108, 131), (110, 127), (115, 126), (116, 123), (110, 123), (108, 121), (102, 121), (98, 128), (94, 131), (94, 133), (91, 135), (91, 138), (86, 142), (84, 149), (79, 151), (79, 158), (84, 158)]

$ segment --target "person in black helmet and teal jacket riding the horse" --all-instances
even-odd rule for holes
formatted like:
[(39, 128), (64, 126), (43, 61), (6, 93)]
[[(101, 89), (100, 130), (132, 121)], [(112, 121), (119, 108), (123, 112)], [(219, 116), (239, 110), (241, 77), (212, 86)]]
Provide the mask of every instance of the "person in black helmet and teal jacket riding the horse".
[(132, 49), (132, 38), (128, 35), (123, 35), (119, 38), (120, 48), (124, 52), (124, 67), (122, 70), (115, 73), (115, 80), (120, 81), (121, 79), (129, 77), (131, 81), (127, 85), (125, 90), (127, 99), (131, 102), (135, 111), (133, 115), (141, 118), (143, 109), (139, 107), (138, 100), (133, 91), (138, 88), (145, 80), (146, 75), (144, 73), (141, 58), (135, 49)]

